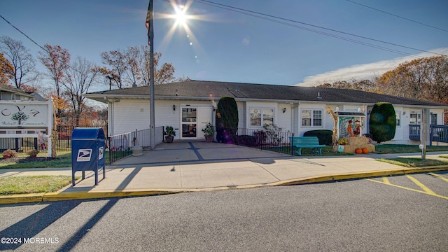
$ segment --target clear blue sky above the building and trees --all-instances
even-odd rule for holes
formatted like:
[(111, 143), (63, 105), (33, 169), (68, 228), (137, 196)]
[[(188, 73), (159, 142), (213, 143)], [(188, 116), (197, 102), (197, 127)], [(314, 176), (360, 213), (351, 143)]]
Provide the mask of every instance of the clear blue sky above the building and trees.
[[(448, 1), (445, 0), (353, 0), (356, 3), (346, 0), (211, 1), (448, 55)], [(297, 22), (255, 18), (211, 6), (204, 1), (187, 3), (186, 0), (178, 0), (177, 3), (189, 6), (187, 15), (201, 19), (187, 20), (188, 31), (178, 26), (170, 33), (175, 20), (164, 18), (163, 14), (174, 13), (172, 4), (169, 0), (153, 2), (154, 50), (162, 52), (162, 62), (174, 65), (176, 77), (316, 85), (325, 81), (380, 76), (404, 60), (433, 56)], [(69, 50), (72, 58), (85, 57), (97, 64), (101, 64), (101, 52), (147, 44), (144, 25), (147, 9), (148, 0), (0, 0), (0, 15), (38, 44), (61, 45)], [(358, 43), (299, 29), (298, 26), (343, 36)], [(33, 55), (38, 55), (41, 50), (0, 19), (0, 36), (3, 35), (22, 41)], [(399, 50), (405, 55), (359, 42)]]

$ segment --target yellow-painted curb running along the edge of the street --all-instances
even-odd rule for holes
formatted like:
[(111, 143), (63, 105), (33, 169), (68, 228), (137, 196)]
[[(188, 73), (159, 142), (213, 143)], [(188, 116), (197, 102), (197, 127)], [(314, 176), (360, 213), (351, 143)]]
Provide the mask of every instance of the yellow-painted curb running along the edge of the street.
[(448, 170), (448, 165), (425, 168), (403, 168), (391, 169), (386, 171), (373, 172), (353, 172), (347, 174), (330, 174), (322, 176), (310, 176), (302, 179), (288, 179), (286, 181), (278, 181), (274, 183), (253, 184), (244, 186), (220, 186), (216, 188), (171, 188), (171, 189), (136, 189), (136, 190), (98, 190), (98, 191), (78, 191), (78, 192), (56, 192), (56, 193), (30, 193), (23, 195), (6, 195), (0, 196), (0, 204), (18, 204), (29, 202), (55, 202), (62, 200), (92, 200), (111, 197), (139, 197), (139, 196), (155, 196), (168, 195), (175, 193), (193, 193), (213, 190), (228, 189), (248, 189), (260, 188), (265, 186), (295, 186), (309, 183), (323, 183), (329, 181), (345, 181), (350, 179), (363, 179), (378, 176), (391, 176), (403, 174), (416, 174), (423, 172), (440, 172)]

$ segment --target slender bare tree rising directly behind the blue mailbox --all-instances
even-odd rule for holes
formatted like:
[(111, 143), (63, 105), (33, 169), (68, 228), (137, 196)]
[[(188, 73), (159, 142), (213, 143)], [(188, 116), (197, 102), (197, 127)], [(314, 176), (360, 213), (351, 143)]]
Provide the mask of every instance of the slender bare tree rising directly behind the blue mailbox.
[(76, 127), (79, 126), (81, 113), (86, 108), (83, 94), (97, 82), (98, 76), (98, 68), (85, 58), (76, 57), (71, 67), (65, 69), (62, 85), (65, 87), (64, 94), (71, 105)]

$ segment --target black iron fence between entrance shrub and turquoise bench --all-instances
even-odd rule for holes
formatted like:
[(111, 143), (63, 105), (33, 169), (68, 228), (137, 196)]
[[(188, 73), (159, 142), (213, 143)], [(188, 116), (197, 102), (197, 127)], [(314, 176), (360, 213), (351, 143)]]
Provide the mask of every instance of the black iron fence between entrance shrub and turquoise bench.
[(223, 139), (218, 141), (293, 155), (289, 141), (290, 137), (294, 137), (293, 132), (225, 128), (222, 135)]

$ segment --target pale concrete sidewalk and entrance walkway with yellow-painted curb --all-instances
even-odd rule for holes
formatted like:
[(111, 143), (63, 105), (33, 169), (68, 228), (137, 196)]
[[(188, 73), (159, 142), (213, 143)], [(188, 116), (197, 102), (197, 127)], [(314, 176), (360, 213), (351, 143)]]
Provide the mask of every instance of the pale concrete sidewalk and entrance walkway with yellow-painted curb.
[[(94, 186), (94, 173), (86, 172), (86, 179), (76, 181), (74, 187), (67, 186), (57, 193), (1, 196), (0, 204), (282, 186), (448, 170), (448, 165), (405, 168), (375, 160), (421, 158), (421, 153), (297, 157), (204, 141), (179, 141), (156, 147), (154, 151), (144, 151), (142, 156), (131, 156), (106, 166), (106, 179), (99, 172), (98, 186)], [(437, 159), (442, 154), (448, 153), (427, 153), (426, 158)], [(71, 176), (71, 167), (0, 169), (0, 177), (27, 175)], [(81, 176), (81, 172), (76, 176)]]

